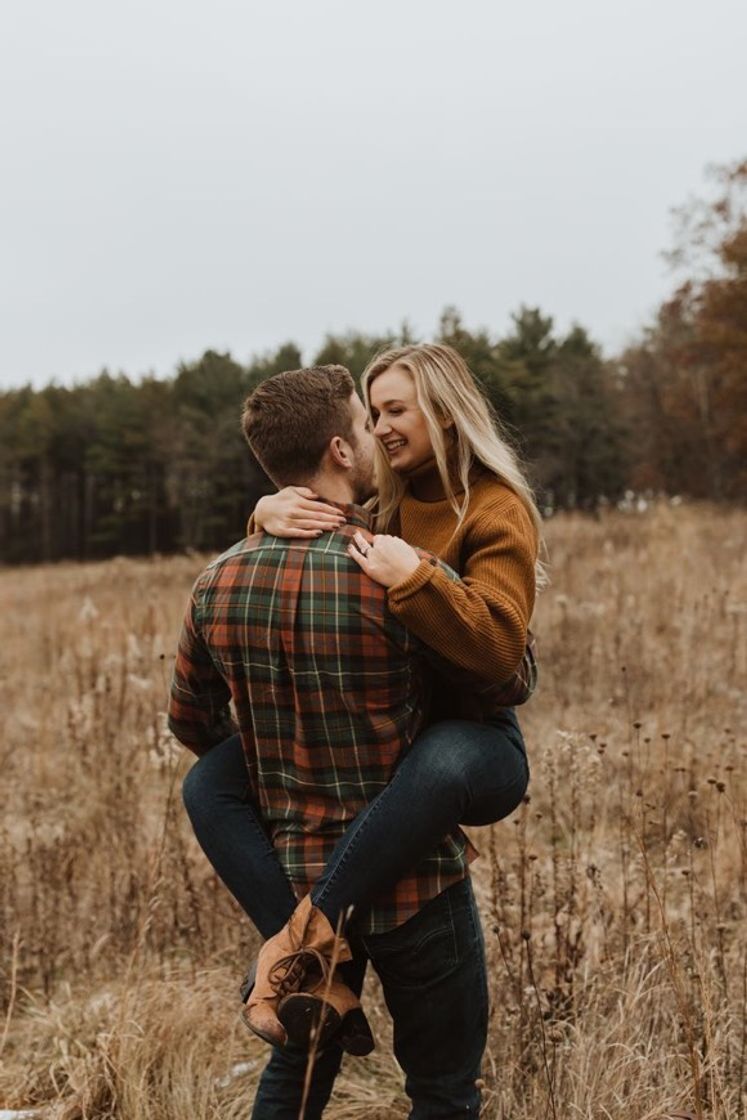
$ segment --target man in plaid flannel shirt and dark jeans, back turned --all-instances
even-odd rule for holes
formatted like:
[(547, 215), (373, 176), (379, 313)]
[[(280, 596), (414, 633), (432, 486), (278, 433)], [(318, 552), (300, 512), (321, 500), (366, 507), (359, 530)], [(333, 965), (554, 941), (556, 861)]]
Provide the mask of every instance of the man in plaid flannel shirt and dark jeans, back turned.
[[(374, 488), (374, 439), (349, 373), (323, 366), (268, 379), (246, 402), (244, 430), (278, 486), (310, 486), (345, 515), (339, 528), (315, 540), (259, 533), (230, 549), (195, 584), (179, 645), (170, 727), (205, 756), (198, 769), (221, 758), (233, 701), (245, 755), (243, 781), (284, 870), (283, 879), (268, 859), (274, 879), (244, 903), (245, 885), (234, 886), (220, 866), (217, 847), (208, 850), (200, 837), (224, 881), (269, 939), (265, 952), (282, 936), (278, 931), (297, 899), (308, 896), (349, 822), (391, 781), (421, 728), (428, 666), (421, 643), (389, 613), (384, 588), (347, 552), (354, 533), (370, 535), (361, 503)], [(315, 922), (316, 907), (309, 913)], [(353, 1006), (371, 960), (394, 1020), (394, 1049), (413, 1120), (477, 1116), (487, 984), (464, 839), (445, 841), (374, 899), (368, 913), (355, 915), (346, 932), (340, 941), (349, 945), (351, 959), (343, 955), (334, 977), (343, 992), (339, 1006)], [(302, 955), (308, 944), (291, 946), (299, 948)], [(293, 980), (298, 954), (288, 960), (284, 978)], [(351, 999), (344, 996), (348, 990)], [(290, 991), (292, 1006), (293, 998), (306, 1006), (308, 977)], [(267, 987), (259, 999), (254, 992), (250, 1025), (263, 1037), (283, 1040), (276, 1033), (282, 1030), (279, 996)], [(321, 1116), (340, 1058), (334, 1044), (318, 1057), (308, 1120)], [(305, 1049), (292, 1040), (276, 1046), (260, 1081), (254, 1120), (298, 1116), (306, 1065)]]

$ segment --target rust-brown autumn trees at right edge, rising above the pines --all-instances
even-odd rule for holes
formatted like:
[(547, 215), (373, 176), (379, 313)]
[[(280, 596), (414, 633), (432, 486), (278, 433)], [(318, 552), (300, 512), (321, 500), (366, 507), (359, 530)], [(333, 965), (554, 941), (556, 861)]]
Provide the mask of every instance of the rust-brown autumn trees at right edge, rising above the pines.
[(684, 272), (622, 360), (642, 454), (634, 485), (698, 497), (747, 494), (747, 160), (713, 168), (717, 190), (675, 212), (666, 254)]

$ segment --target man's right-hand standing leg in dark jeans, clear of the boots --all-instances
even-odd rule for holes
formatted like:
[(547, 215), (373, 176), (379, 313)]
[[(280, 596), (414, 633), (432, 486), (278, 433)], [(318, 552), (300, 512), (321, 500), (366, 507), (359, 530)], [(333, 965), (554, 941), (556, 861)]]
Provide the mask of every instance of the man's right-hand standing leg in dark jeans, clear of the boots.
[(487, 973), (469, 879), (390, 933), (362, 939), (394, 1021), (394, 1053), (412, 1101), (410, 1120), (479, 1114), (487, 1040)]

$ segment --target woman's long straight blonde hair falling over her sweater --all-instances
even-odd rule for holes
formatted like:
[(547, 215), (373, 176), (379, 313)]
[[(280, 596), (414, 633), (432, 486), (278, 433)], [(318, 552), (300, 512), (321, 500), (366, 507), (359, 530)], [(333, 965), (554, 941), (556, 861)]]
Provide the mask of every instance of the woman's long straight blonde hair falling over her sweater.
[[(516, 452), (502, 430), (501, 421), (480, 392), (464, 358), (450, 346), (435, 343), (382, 351), (368, 363), (362, 379), (363, 396), (370, 414), (371, 384), (379, 374), (393, 365), (407, 370), (414, 382), (418, 404), (426, 418), (443, 492), (457, 515), (456, 529), (466, 517), (469, 506), (469, 472), (476, 463), (480, 463), (521, 498), (534, 523), (538, 540), (541, 541), (542, 519), (532, 488)], [(445, 429), (445, 419), (452, 420), (454, 427)], [(454, 433), (451, 449), (447, 444), (446, 431)], [(464, 491), (461, 501), (455, 493), (455, 477), (459, 488)], [(376, 529), (379, 532), (386, 532), (402, 500), (404, 483), (392, 470), (379, 441), (376, 479)], [(542, 564), (538, 564), (538, 577), (539, 585), (545, 582)]]

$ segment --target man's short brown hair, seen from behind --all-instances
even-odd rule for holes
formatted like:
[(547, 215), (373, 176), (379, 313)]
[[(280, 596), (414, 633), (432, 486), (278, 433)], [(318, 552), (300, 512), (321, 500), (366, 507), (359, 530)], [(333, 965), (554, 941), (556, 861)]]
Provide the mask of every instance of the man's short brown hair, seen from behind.
[(277, 486), (314, 477), (330, 439), (353, 435), (355, 384), (344, 365), (277, 373), (244, 403), (244, 436)]

